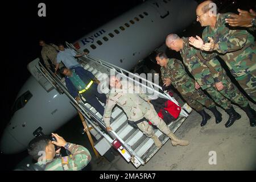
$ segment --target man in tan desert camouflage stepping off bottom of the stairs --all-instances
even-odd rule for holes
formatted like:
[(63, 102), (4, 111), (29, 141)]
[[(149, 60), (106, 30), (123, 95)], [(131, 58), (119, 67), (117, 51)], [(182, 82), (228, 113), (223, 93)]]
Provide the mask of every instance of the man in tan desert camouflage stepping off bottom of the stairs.
[[(143, 94), (139, 87), (126, 80), (120, 81), (116, 76), (110, 77), (109, 84), (112, 89), (110, 90), (103, 115), (103, 120), (108, 131), (112, 130), (110, 127), (110, 117), (113, 107), (117, 104), (125, 111), (129, 121), (136, 122), (143, 118), (148, 119), (171, 139), (173, 146), (176, 146), (177, 144), (187, 146), (189, 144), (187, 140), (181, 140), (171, 132), (166, 123), (158, 117), (154, 106), (152, 106), (148, 100), (148, 96)], [(140, 122), (137, 126), (147, 135), (147, 137), (151, 137), (154, 140), (156, 147), (160, 148), (162, 146), (162, 143), (154, 134), (154, 130), (148, 122)]]

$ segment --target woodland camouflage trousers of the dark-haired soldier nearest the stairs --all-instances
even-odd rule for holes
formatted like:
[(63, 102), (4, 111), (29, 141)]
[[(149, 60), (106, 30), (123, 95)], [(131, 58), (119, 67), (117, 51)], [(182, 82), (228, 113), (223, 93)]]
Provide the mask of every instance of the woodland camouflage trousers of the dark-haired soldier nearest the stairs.
[(202, 90), (196, 90), (194, 81), (186, 82), (186, 84), (174, 85), (179, 91), (184, 100), (196, 111), (203, 110), (203, 106), (210, 108), (216, 106), (212, 99), (210, 99)]

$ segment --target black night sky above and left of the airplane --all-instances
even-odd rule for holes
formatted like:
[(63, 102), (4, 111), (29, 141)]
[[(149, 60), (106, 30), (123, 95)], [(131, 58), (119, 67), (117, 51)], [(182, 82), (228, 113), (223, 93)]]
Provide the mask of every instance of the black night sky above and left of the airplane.
[[(38, 4), (46, 4), (46, 17), (38, 16)], [(9, 1), (2, 15), (2, 30), (7, 59), (2, 60), (4, 75), (2, 86), (3, 121), (20, 87), (30, 76), (27, 64), (40, 55), (39, 39), (48, 43), (73, 42), (102, 24), (143, 2), (130, 1)], [(6, 44), (7, 43), (7, 44)], [(2, 128), (2, 127), (1, 127)]]

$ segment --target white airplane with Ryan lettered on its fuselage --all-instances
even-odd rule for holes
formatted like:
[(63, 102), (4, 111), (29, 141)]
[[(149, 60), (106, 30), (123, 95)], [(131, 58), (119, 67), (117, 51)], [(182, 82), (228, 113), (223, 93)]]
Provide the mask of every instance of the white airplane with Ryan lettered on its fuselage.
[[(196, 19), (196, 6), (193, 0), (146, 1), (73, 45), (80, 51), (88, 51), (90, 55), (130, 70), (138, 60), (161, 46), (170, 32), (182, 31), (191, 24)], [(38, 60), (28, 64), (32, 76), (20, 89), (13, 117), (2, 135), (3, 154), (26, 150), (38, 127), (42, 127), (43, 133), (50, 134), (77, 114), (65, 94), (52, 89), (45, 78), (40, 79), (36, 63)]]

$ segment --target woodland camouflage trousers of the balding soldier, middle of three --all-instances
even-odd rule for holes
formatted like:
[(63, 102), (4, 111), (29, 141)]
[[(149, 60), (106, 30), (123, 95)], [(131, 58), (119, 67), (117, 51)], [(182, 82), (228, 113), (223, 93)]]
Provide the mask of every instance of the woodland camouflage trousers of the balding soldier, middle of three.
[(240, 105), (241, 107), (245, 107), (249, 104), (245, 96), (242, 95), (226, 74), (224, 74), (222, 78), (222, 84), (224, 89), (221, 91), (218, 91), (214, 86), (205, 89), (205, 91), (207, 91), (212, 99), (223, 109), (230, 109), (232, 106), (230, 101)]

